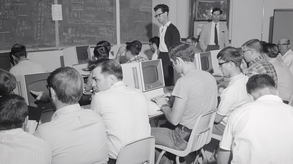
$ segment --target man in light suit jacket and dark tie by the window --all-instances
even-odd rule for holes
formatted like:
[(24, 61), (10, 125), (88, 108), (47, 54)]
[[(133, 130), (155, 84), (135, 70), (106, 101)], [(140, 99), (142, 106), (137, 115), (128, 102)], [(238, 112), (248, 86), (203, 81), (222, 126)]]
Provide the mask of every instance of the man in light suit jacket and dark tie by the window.
[[(199, 43), (204, 52), (221, 50), (230, 46), (227, 25), (220, 22), (222, 10), (215, 8), (212, 11), (213, 21), (205, 24), (201, 30)], [(217, 34), (217, 35), (215, 35)]]

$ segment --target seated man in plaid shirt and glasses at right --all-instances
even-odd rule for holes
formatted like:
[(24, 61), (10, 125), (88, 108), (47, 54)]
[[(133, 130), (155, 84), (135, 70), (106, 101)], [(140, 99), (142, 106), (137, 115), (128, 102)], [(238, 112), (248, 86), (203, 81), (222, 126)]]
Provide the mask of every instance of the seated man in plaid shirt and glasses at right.
[(247, 68), (247, 64), (242, 60), (241, 69), (243, 73), (248, 77), (256, 74), (267, 74), (274, 79), (277, 87), (278, 78), (276, 70), (271, 63), (263, 58), (262, 43), (258, 39), (251, 39), (245, 42), (242, 46), (244, 59), (249, 63), (249, 67)]

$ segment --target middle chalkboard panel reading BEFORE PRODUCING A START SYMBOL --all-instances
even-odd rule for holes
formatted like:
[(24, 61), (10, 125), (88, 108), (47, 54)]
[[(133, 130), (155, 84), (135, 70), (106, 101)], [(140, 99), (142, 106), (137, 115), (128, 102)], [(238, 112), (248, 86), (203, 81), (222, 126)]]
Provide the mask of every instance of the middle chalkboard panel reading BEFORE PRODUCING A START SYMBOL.
[(117, 43), (115, 0), (58, 0), (62, 5), (59, 45), (96, 45), (101, 40)]

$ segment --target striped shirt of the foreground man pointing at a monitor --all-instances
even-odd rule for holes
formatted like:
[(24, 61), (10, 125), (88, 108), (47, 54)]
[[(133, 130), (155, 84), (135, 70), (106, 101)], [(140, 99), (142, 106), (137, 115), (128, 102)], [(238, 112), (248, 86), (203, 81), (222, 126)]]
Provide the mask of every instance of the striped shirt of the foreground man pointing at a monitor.
[(39, 125), (35, 136), (52, 148), (52, 163), (108, 161), (107, 135), (102, 118), (79, 104), (58, 109), (50, 122)]

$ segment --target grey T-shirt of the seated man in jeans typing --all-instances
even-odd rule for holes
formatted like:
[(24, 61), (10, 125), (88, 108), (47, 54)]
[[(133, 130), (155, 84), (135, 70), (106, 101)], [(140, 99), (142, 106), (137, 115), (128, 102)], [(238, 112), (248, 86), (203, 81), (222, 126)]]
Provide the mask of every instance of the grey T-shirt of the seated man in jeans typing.
[(180, 125), (193, 129), (198, 116), (217, 107), (217, 94), (216, 80), (206, 71), (190, 70), (179, 78), (172, 95), (187, 101)]

